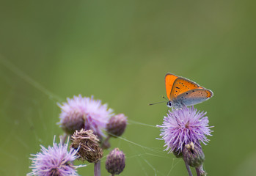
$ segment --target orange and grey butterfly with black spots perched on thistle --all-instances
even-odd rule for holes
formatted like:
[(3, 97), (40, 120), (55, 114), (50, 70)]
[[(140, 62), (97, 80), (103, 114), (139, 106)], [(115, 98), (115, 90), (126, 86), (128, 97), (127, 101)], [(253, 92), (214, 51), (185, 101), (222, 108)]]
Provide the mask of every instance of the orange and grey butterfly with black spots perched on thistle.
[(165, 76), (165, 87), (167, 89), (168, 107), (180, 109), (183, 106), (192, 106), (202, 103), (213, 96), (210, 89), (200, 87), (194, 81), (187, 78), (167, 73)]

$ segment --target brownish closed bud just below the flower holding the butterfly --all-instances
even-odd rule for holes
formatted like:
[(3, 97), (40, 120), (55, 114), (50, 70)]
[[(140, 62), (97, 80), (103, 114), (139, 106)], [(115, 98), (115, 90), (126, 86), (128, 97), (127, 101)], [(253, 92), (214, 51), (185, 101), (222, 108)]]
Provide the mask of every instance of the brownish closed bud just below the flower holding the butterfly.
[(186, 144), (183, 149), (183, 159), (189, 166), (202, 166), (205, 161), (205, 154), (202, 152), (200, 144), (194, 144), (193, 142)]

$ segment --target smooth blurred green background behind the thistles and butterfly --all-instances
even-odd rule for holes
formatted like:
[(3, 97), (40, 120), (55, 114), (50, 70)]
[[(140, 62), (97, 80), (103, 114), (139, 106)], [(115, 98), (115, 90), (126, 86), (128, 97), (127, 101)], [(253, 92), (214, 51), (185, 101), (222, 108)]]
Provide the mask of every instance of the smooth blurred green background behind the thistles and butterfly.
[(126, 154), (121, 175), (187, 175), (156, 140), (166, 104), (148, 106), (165, 95), (168, 72), (214, 92), (196, 106), (214, 126), (208, 175), (256, 175), (255, 4), (0, 1), (0, 175), (31, 172), (30, 154), (62, 134), (56, 103), (78, 94), (128, 116), (122, 139), (111, 139)]

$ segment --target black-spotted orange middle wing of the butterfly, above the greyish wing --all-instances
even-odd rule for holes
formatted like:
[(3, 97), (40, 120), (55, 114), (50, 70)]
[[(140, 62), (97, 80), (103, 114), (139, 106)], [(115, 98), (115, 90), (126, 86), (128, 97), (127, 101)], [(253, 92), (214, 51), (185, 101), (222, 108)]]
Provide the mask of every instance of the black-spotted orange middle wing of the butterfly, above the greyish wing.
[(197, 83), (190, 81), (187, 78), (178, 77), (175, 79), (172, 84), (172, 90), (170, 93), (170, 100), (175, 100), (178, 95), (183, 94), (184, 92), (188, 92), (191, 89), (205, 89), (204, 87), (200, 87)]

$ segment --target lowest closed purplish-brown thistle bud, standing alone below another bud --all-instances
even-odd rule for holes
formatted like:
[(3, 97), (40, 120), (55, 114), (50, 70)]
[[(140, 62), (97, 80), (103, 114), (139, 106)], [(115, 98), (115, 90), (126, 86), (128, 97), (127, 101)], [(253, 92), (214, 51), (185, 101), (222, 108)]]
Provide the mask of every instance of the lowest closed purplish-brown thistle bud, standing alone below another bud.
[(119, 175), (125, 168), (125, 154), (118, 148), (112, 150), (106, 157), (106, 170), (111, 175)]

